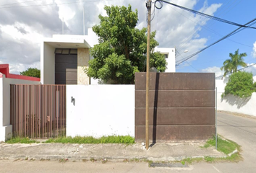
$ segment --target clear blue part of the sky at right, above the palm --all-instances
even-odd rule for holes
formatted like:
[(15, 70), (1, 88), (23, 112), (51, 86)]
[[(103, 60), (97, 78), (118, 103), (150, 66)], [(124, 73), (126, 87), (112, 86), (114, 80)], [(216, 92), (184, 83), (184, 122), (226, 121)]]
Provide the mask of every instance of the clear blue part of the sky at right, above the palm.
[[(205, 3), (205, 1), (198, 1), (194, 9), (199, 10), (203, 3)], [(214, 16), (232, 22), (244, 25), (249, 22), (249, 20), (256, 17), (256, 1), (208, 1), (208, 4), (210, 3), (221, 3), (221, 7), (218, 8)], [(200, 34), (200, 37), (208, 38), (205, 45), (209, 45), (229, 32), (236, 30), (236, 28), (237, 27), (233, 25), (209, 20), (198, 33)], [(237, 49), (239, 49), (239, 53), (247, 53), (247, 57), (244, 58), (246, 63), (256, 63), (256, 58), (252, 55), (252, 48), (255, 41), (256, 30), (249, 28), (242, 30), (236, 35), (229, 37), (229, 39), (223, 40), (207, 50), (204, 50), (198, 55), (196, 61), (189, 62), (191, 66), (179, 66), (176, 71), (197, 72), (202, 71), (203, 69), (210, 70), (210, 68), (213, 67), (221, 67), (223, 61), (229, 58), (229, 53), (234, 53)], [(187, 55), (189, 56), (190, 53), (182, 54), (184, 57)], [(256, 75), (255, 69), (250, 68), (249, 71), (252, 71)]]

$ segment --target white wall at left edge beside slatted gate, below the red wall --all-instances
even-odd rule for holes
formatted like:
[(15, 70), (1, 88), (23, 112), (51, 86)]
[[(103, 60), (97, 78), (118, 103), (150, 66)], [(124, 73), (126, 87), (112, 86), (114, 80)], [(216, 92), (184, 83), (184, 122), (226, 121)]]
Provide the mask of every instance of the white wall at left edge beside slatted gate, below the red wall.
[(0, 78), (0, 141), (6, 141), (12, 136), (10, 125), (10, 84), (40, 84), (40, 81)]

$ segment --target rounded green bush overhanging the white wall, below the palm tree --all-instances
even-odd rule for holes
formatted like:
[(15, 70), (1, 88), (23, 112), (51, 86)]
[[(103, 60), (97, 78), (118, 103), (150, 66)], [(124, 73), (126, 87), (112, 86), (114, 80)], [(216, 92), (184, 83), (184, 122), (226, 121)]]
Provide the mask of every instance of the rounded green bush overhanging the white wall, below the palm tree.
[(224, 94), (233, 94), (238, 97), (250, 97), (256, 92), (256, 83), (253, 83), (252, 74), (245, 71), (238, 71), (229, 76)]

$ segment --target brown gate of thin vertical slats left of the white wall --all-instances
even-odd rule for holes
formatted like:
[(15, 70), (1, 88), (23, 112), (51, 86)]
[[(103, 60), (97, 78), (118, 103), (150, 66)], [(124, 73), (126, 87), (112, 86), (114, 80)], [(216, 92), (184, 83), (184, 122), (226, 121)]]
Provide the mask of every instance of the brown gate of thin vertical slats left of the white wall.
[(66, 85), (11, 84), (13, 137), (66, 135)]

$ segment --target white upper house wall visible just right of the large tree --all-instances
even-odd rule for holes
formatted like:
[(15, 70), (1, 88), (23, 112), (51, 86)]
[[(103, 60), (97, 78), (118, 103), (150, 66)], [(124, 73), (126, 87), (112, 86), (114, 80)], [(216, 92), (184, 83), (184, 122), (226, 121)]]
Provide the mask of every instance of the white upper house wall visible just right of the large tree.
[(168, 64), (165, 72), (176, 72), (175, 48), (155, 48), (155, 52), (168, 54), (168, 58), (166, 58)]

